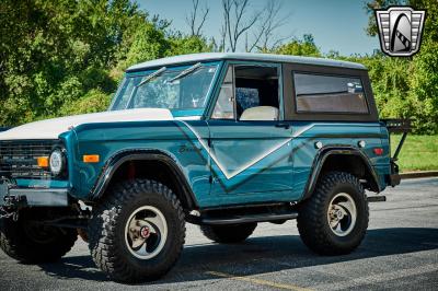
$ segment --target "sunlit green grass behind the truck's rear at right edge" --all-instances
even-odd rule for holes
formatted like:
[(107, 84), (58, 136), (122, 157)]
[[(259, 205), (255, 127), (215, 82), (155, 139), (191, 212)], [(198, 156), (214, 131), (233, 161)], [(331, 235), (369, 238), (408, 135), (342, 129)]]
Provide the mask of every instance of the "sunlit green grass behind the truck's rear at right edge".
[[(402, 136), (391, 136), (394, 152)], [(401, 172), (438, 170), (438, 136), (407, 135), (397, 162)]]

